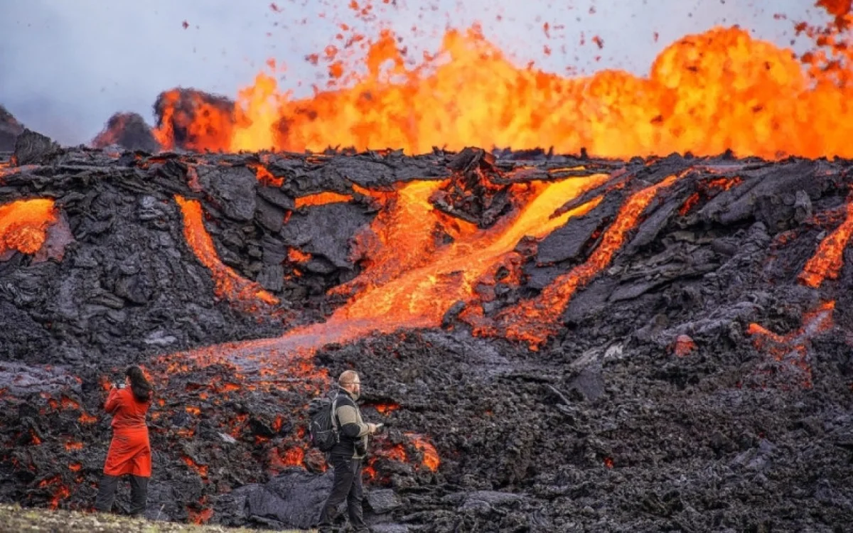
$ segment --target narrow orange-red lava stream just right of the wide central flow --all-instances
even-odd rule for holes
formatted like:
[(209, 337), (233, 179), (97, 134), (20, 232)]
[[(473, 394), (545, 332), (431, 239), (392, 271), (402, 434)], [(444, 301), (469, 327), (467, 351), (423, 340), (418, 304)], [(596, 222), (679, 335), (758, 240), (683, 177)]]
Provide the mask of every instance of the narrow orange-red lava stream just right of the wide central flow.
[(676, 179), (678, 176), (667, 177), (662, 182), (632, 194), (619, 209), (616, 220), (606, 230), (601, 243), (586, 263), (558, 276), (537, 298), (522, 301), (516, 307), (502, 311), (494, 325), (481, 316), (481, 308), (470, 308), (463, 314), (463, 318), (472, 324), (474, 333), (505, 335), (508, 339), (524, 340), (530, 343), (532, 349), (536, 349), (556, 333), (558, 327), (555, 322), (566, 310), (577, 288), (589, 283), (610, 263), (613, 254), (622, 246), (626, 235), (634, 229), (642, 211), (659, 189), (669, 187)]

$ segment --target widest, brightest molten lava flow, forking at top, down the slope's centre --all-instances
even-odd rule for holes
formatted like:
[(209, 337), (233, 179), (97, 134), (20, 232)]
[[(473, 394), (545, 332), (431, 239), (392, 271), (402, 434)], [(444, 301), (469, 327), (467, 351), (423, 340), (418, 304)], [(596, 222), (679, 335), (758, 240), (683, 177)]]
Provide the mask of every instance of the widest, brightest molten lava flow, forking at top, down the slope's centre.
[[(164, 361), (170, 364), (169, 372), (180, 371), (188, 360), (197, 365), (259, 362), (264, 367), (278, 366), (291, 375), (322, 379), (310, 359), (317, 348), (368, 333), (390, 333), (399, 327), (437, 327), (453, 304), (479, 298), (475, 287), (517, 255), (514, 248), (519, 240), (525, 236), (542, 238), (569, 218), (597, 206), (600, 197), (553, 216), (567, 201), (607, 178), (595, 174), (531, 183), (527, 186), (530, 200), (489, 229), (458, 223), (433, 209), (428, 199), (441, 183), (412, 182), (398, 192), (389, 210), (380, 212), (371, 231), (362, 235), (360, 246), (371, 251), (368, 257), (373, 262), (346, 287), (350, 300), (327, 322), (293, 328), (278, 339), (210, 346), (172, 354)], [(200, 207), (194, 205), (200, 223)], [(437, 240), (437, 229), (454, 240)]]

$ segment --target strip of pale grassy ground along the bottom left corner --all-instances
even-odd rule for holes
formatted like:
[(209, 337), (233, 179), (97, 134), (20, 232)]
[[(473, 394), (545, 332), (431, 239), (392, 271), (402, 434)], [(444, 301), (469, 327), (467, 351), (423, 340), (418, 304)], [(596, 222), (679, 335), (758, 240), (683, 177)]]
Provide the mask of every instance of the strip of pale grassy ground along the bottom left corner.
[[(78, 511), (50, 511), (19, 505), (0, 504), (0, 531), (44, 533), (248, 533), (257, 531), (248, 528), (229, 528), (221, 525), (191, 525), (171, 522), (152, 522), (146, 519), (131, 519), (109, 513), (79, 513)], [(303, 530), (287, 530), (285, 533), (302, 533)], [(316, 530), (311, 530), (316, 531)]]

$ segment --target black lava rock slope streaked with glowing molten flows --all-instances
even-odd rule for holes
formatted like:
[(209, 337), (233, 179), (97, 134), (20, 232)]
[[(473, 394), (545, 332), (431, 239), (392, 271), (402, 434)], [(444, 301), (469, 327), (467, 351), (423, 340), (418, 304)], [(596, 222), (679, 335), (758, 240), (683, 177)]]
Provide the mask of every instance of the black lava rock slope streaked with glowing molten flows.
[(102, 385), (139, 362), (152, 518), (310, 525), (304, 406), (357, 368), (375, 530), (853, 520), (845, 161), (28, 135), (0, 176), (4, 501), (90, 507)]

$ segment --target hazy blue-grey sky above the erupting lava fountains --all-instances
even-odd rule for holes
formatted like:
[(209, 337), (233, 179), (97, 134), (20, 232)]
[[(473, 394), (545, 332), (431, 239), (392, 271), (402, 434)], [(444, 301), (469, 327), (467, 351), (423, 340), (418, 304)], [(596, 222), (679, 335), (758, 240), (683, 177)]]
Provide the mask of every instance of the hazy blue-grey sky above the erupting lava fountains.
[(370, 14), (357, 16), (350, 0), (277, 0), (276, 9), (267, 0), (0, 0), (0, 103), (32, 129), (76, 144), (89, 142), (116, 111), (153, 122), (154, 99), (171, 87), (233, 97), (270, 58), (286, 65), (282, 89), (305, 95), (327, 79), (305, 57), (340, 46), (341, 23), (368, 38), (391, 27), (409, 56), (421, 57), (437, 50), (447, 26), (479, 21), (519, 64), (645, 75), (661, 49), (688, 33), (740, 25), (791, 46), (793, 20), (826, 18), (811, 0), (371, 2)]

